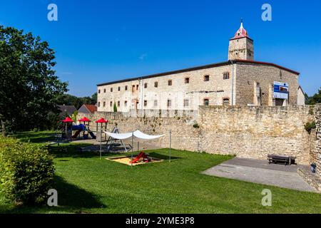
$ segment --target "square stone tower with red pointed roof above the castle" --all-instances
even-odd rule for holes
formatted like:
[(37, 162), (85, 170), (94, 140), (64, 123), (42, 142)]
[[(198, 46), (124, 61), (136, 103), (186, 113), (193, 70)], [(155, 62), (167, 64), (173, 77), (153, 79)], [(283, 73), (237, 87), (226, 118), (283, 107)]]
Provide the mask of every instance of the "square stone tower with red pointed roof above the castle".
[(243, 28), (243, 21), (241, 21), (240, 28), (235, 36), (230, 39), (230, 46), (228, 47), (228, 60), (235, 59), (254, 60), (253, 39), (248, 36), (248, 32)]

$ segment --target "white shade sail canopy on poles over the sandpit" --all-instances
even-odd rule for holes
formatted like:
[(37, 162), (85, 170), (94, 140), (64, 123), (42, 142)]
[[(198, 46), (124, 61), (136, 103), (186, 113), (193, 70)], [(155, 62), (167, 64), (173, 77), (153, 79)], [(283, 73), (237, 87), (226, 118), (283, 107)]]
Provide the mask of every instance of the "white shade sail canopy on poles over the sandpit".
[[(109, 132), (104, 132), (106, 133), (106, 135), (109, 135), (111, 138), (115, 138), (117, 140), (126, 140), (128, 138), (131, 138), (132, 140), (132, 144), (133, 144), (133, 140), (134, 138), (138, 141), (147, 141), (147, 140), (155, 140), (158, 138), (163, 137), (165, 134), (163, 135), (147, 135), (145, 133), (142, 133), (140, 130), (136, 130), (132, 133), (109, 133)], [(171, 147), (171, 130), (170, 130), (170, 147)], [(170, 148), (171, 150), (171, 148)], [(170, 150), (169, 150), (169, 161), (170, 161)], [(133, 149), (131, 150), (131, 160), (133, 160)], [(133, 165), (133, 163), (132, 163)]]

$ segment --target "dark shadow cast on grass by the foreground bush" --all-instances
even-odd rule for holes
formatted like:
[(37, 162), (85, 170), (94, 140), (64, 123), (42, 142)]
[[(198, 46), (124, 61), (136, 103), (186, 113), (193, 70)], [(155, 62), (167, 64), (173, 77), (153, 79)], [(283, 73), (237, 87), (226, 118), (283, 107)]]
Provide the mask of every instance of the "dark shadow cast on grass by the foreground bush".
[(91, 192), (66, 182), (62, 177), (54, 177), (54, 189), (58, 192), (58, 207), (1, 205), (0, 214), (88, 213), (86, 209), (106, 207)]

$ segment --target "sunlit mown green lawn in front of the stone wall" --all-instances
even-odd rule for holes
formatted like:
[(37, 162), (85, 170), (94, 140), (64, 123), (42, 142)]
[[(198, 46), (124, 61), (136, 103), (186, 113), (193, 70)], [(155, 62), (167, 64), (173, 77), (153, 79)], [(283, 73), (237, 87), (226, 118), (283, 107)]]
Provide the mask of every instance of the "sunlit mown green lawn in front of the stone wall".
[[(169, 163), (168, 150), (151, 150), (165, 160), (130, 167), (78, 152), (78, 146), (51, 147), (59, 207), (15, 207), (0, 195), (0, 213), (321, 213), (315, 193), (200, 173), (229, 156), (172, 150)], [(272, 207), (261, 205), (265, 188), (272, 191)]]

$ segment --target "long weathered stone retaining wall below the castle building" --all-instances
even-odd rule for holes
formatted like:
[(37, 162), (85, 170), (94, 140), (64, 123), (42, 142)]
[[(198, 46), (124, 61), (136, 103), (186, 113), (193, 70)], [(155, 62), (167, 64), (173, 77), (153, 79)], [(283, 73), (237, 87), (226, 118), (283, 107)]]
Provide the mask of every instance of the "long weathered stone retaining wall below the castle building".
[[(318, 115), (321, 117), (320, 113)], [(314, 119), (310, 106), (200, 106), (197, 115), (181, 110), (169, 113), (144, 110), (141, 113), (79, 114), (80, 118), (83, 116), (91, 120), (106, 118), (110, 120), (108, 130), (117, 123), (121, 133), (139, 129), (160, 135), (172, 130), (172, 147), (179, 150), (263, 160), (275, 153), (294, 155), (300, 164), (310, 162), (310, 136), (304, 128), (305, 123)], [(91, 129), (96, 130), (96, 123), (91, 123)], [(168, 147), (168, 135), (154, 143), (158, 147)]]

